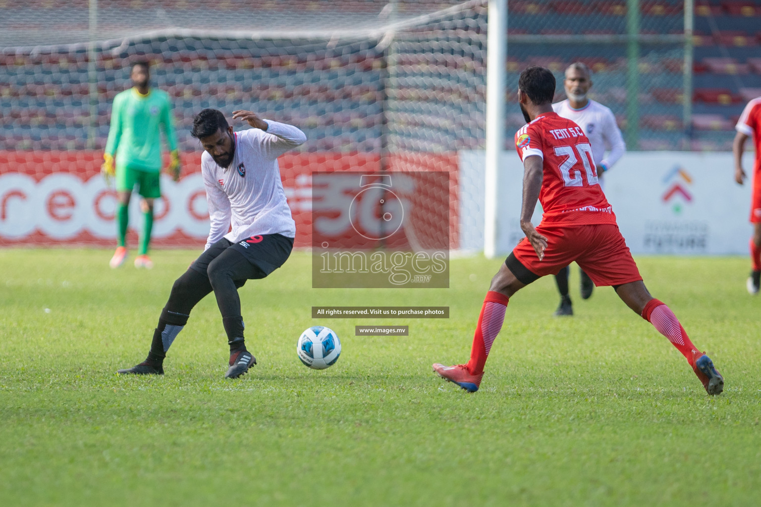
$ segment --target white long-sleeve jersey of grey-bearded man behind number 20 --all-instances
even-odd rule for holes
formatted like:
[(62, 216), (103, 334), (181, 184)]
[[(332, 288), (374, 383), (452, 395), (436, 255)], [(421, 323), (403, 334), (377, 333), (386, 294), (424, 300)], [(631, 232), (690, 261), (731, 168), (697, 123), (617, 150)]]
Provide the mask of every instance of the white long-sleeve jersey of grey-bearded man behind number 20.
[[(602, 164), (605, 170), (613, 167), (626, 151), (621, 131), (616, 125), (616, 116), (606, 106), (590, 100), (581, 109), (574, 109), (568, 100), (552, 104), (552, 109), (559, 116), (567, 118), (581, 127), (592, 146), (594, 162)], [(605, 157), (605, 151), (608, 156)]]

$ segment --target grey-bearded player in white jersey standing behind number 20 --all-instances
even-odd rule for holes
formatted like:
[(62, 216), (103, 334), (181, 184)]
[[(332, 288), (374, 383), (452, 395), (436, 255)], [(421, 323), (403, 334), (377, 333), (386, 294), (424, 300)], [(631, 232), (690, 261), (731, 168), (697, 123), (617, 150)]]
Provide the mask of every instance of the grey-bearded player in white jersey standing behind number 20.
[[(592, 145), (592, 157), (597, 163), (597, 177), (600, 186), (603, 186), (603, 174), (610, 170), (626, 151), (626, 144), (616, 125), (616, 117), (606, 106), (587, 97), (592, 87), (592, 73), (587, 65), (581, 62), (568, 65), (563, 85), (568, 99), (552, 104), (552, 110), (581, 126), (584, 135), (589, 138), (589, 144)], [(581, 299), (589, 299), (594, 284), (583, 270), (579, 270), (579, 274)], [(573, 315), (571, 296), (568, 295), (568, 266), (555, 275), (555, 282), (560, 293), (560, 305), (555, 315)]]

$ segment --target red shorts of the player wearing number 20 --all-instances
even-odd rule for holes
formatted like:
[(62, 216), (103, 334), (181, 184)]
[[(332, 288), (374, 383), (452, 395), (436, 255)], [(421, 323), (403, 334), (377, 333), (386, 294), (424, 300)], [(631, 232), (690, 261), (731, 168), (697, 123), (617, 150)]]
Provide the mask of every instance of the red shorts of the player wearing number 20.
[[(505, 261), (510, 271), (524, 284), (546, 274), (557, 274), (572, 261), (576, 261), (597, 287), (642, 280), (617, 225), (601, 223), (543, 227), (540, 223), (537, 233), (547, 238), (547, 248), (541, 261), (526, 238), (521, 239), (513, 249), (511, 257), (514, 258), (508, 257)], [(516, 265), (515, 260), (519, 264)], [(527, 272), (521, 272), (521, 265)]]

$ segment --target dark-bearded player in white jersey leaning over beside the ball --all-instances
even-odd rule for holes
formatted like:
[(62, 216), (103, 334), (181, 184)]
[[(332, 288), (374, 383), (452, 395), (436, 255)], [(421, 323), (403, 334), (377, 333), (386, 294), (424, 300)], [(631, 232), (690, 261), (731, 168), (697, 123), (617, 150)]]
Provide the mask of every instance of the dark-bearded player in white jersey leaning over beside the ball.
[(233, 132), (216, 109), (204, 109), (193, 119), (191, 135), (205, 151), (201, 173), (212, 222), (209, 239), (201, 256), (174, 282), (148, 357), (119, 373), (163, 374), (164, 357), (186, 325), (190, 310), (212, 291), (230, 345), (224, 376), (235, 379), (256, 364), (246, 349), (237, 289), (246, 280), (266, 277), (291, 254), (296, 224), (285, 200), (277, 159), (307, 138), (294, 126), (260, 119), (254, 112), (234, 111), (233, 119), (253, 128)]

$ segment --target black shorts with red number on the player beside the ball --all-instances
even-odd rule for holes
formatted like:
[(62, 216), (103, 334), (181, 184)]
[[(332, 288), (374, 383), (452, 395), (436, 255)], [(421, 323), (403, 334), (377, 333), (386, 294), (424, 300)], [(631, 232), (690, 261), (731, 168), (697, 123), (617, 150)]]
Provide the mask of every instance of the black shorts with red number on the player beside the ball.
[(256, 280), (266, 277), (272, 271), (285, 264), (285, 261), (291, 255), (292, 249), (293, 238), (288, 238), (282, 234), (261, 234), (251, 236), (237, 243), (222, 238), (212, 246), (209, 246), (190, 265), (190, 269), (206, 275), (206, 269), (209, 268), (209, 264), (215, 258), (218, 258), (228, 250), (232, 250), (243, 255), (251, 265), (251, 269), (246, 270), (247, 272), (244, 274), (244, 277), (248, 280)]

